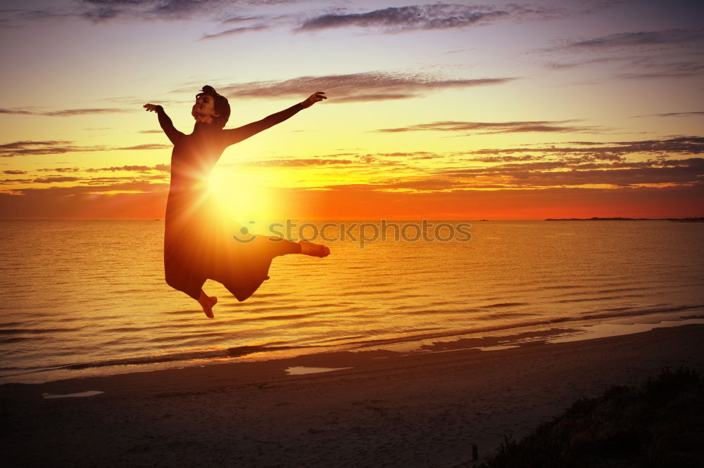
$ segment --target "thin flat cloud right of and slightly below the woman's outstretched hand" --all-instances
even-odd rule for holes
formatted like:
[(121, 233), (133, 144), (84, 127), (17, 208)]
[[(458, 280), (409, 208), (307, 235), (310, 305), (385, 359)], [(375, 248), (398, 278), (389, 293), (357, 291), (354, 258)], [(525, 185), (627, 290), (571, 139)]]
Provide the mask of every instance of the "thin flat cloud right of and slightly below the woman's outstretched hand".
[[(482, 134), (513, 134), (526, 132), (557, 132), (557, 133), (579, 133), (603, 131), (596, 126), (565, 125), (579, 120), (538, 120), (524, 122), (432, 122), (429, 124), (417, 124), (404, 126), (396, 129), (379, 129), (377, 131), (386, 133), (396, 133), (403, 131), (477, 131), (484, 130)], [(489, 130), (489, 131), (486, 131)]]

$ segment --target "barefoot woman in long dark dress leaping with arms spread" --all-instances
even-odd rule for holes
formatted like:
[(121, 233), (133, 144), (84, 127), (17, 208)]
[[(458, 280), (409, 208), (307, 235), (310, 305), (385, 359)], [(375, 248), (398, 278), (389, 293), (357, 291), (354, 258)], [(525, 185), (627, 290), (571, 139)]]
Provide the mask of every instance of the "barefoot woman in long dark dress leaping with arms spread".
[(221, 282), (237, 300), (244, 301), (269, 279), (269, 267), (275, 256), (329, 255), (325, 245), (303, 240), (296, 243), (251, 236), (249, 242), (239, 242), (213, 212), (213, 196), (208, 192), (210, 171), (225, 148), (284, 122), (323, 99), (327, 96), (318, 91), (302, 103), (258, 122), (225, 130), (230, 103), (212, 86), (203, 86), (191, 110), (196, 124), (190, 135), (175, 129), (161, 105), (144, 105), (147, 111), (156, 112), (161, 128), (174, 145), (164, 230), (165, 280), (175, 290), (196, 299), (209, 318), (213, 318), (218, 298), (208, 297), (203, 291), (206, 280)]

